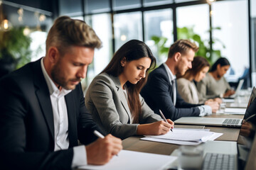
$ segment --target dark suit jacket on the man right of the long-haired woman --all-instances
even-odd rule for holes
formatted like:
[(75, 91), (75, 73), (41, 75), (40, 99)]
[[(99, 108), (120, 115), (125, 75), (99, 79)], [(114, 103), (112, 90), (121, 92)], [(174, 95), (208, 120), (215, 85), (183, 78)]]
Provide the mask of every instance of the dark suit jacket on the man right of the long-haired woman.
[(176, 91), (176, 106), (174, 106), (172, 85), (163, 64), (149, 74), (146, 85), (140, 94), (154, 113), (159, 113), (159, 109), (161, 109), (164, 116), (171, 120), (200, 114), (200, 110), (196, 106), (201, 105), (186, 103), (178, 91)]

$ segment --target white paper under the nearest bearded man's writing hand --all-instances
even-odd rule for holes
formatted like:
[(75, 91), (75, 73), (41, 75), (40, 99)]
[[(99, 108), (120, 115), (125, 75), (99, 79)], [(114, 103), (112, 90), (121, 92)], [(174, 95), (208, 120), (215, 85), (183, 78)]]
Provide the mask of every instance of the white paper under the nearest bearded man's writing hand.
[(80, 166), (78, 169), (104, 169), (104, 170), (141, 170), (141, 169), (164, 169), (171, 162), (174, 162), (177, 157), (162, 154), (148, 154), (144, 152), (134, 152), (122, 150), (118, 156), (114, 156), (110, 162), (105, 165), (87, 165)]

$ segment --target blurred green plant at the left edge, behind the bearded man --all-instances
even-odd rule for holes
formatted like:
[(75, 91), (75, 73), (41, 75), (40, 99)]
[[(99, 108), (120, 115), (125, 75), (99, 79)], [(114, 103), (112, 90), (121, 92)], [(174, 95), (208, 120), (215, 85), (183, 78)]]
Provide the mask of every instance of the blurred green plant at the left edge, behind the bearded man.
[(14, 64), (14, 69), (31, 61), (31, 38), (23, 34), (24, 28), (0, 31), (0, 61)]

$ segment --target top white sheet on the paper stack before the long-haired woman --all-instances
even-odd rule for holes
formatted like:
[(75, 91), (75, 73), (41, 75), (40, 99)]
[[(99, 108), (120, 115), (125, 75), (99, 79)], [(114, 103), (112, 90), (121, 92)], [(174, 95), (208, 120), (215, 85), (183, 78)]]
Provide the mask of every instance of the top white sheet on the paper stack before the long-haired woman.
[(187, 129), (174, 129), (173, 132), (167, 132), (165, 135), (146, 135), (145, 137), (153, 137), (166, 140), (181, 140), (197, 142), (202, 140), (203, 142), (213, 135), (213, 132), (207, 132), (204, 130), (187, 130)]

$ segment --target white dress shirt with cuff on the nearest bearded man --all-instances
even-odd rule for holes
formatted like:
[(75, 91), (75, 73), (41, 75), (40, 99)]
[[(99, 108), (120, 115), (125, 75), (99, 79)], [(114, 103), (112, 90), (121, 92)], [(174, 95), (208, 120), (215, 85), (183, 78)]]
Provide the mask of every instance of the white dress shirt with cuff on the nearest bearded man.
[[(43, 77), (46, 79), (46, 84), (50, 92), (50, 102), (53, 108), (53, 122), (54, 122), (54, 151), (60, 149), (68, 149), (68, 110), (65, 103), (65, 95), (69, 94), (72, 90), (61, 89), (50, 79), (46, 68), (43, 65), (43, 58), (41, 59), (41, 67)], [(74, 155), (72, 161), (72, 168), (87, 164), (85, 146), (73, 147)]]

